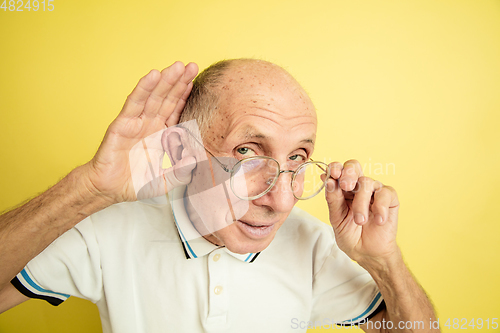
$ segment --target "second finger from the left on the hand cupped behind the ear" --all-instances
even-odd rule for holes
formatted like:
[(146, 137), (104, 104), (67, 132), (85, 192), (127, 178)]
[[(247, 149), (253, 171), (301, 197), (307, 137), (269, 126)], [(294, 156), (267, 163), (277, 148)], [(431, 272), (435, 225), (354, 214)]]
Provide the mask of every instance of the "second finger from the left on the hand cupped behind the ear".
[(165, 98), (173, 92), (172, 90), (178, 84), (184, 72), (184, 64), (180, 61), (174, 62), (161, 71), (161, 79), (151, 92), (151, 96), (148, 98), (146, 107), (144, 108), (144, 115), (146, 117), (156, 117)]

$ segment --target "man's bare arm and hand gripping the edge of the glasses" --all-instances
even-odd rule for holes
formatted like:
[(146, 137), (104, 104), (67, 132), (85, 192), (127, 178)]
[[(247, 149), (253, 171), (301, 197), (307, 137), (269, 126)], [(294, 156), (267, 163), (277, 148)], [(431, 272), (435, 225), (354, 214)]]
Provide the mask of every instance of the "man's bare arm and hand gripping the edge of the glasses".
[[(429, 321), (436, 320), (432, 304), (396, 244), (396, 191), (363, 177), (357, 161), (332, 163), (330, 168), (332, 179), (327, 183), (326, 198), (337, 244), (370, 273), (386, 303), (386, 309), (361, 328), (366, 332), (432, 331)], [(376, 321), (382, 325), (373, 325)], [(408, 321), (420, 326), (399, 326)]]

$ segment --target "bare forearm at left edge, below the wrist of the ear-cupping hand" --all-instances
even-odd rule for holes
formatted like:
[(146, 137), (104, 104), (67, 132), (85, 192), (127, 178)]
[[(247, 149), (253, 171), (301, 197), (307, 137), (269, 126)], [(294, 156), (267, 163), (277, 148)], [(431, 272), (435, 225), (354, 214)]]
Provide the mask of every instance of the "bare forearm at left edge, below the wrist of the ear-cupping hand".
[(74, 169), (46, 192), (0, 216), (0, 290), (57, 237), (111, 204)]

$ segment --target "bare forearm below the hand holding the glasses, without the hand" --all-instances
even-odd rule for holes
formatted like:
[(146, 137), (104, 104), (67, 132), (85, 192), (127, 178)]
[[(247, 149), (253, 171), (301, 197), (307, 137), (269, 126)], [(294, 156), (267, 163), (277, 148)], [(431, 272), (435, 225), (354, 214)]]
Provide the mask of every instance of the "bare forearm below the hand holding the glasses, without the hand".
[[(362, 266), (371, 274), (385, 300), (384, 319), (393, 327), (389, 329), (389, 325), (385, 325), (385, 331), (439, 332), (430, 324), (436, 321), (433, 306), (406, 267), (399, 249), (387, 260), (372, 260)], [(412, 323), (411, 327), (408, 322)]]

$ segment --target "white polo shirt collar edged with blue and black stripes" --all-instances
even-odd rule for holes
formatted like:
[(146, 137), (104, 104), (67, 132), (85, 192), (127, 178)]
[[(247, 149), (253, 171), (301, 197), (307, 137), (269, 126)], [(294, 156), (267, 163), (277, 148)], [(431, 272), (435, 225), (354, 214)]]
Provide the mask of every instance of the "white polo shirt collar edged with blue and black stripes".
[(236, 259), (244, 262), (254, 262), (260, 252), (246, 254), (234, 253), (223, 246), (217, 246), (210, 243), (200, 235), (200, 233), (191, 223), (191, 220), (189, 220), (188, 214), (186, 212), (186, 207), (184, 206), (185, 192), (186, 186), (177, 187), (169, 192), (168, 198), (170, 200), (175, 226), (177, 227), (177, 231), (179, 232), (179, 237), (184, 248), (186, 259), (201, 258), (216, 249), (223, 248), (224, 251), (226, 251)]

